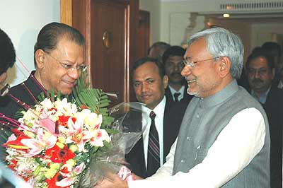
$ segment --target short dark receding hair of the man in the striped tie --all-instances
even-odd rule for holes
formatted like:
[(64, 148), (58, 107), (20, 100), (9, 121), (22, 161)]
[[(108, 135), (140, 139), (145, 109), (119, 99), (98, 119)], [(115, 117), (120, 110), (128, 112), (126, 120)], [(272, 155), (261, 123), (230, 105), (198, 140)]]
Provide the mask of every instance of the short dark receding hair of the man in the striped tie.
[(146, 62), (152, 62), (152, 63), (156, 64), (156, 66), (158, 66), (158, 72), (159, 72), (159, 76), (161, 77), (161, 79), (165, 76), (165, 68), (164, 68), (163, 63), (161, 63), (157, 59), (154, 59), (154, 58), (151, 58), (151, 57), (143, 57), (143, 58), (134, 62), (134, 65), (132, 66), (132, 69), (131, 69), (131, 78), (132, 79), (134, 78), (134, 71), (139, 66), (145, 64)]

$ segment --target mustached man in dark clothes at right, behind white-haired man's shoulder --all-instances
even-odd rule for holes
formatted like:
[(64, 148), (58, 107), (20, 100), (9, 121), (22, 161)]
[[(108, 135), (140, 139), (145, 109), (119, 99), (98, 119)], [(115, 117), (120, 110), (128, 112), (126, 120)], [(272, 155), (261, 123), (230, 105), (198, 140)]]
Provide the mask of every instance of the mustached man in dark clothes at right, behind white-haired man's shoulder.
[(246, 66), (250, 94), (262, 104), (270, 124), (271, 188), (282, 187), (283, 90), (272, 83), (274, 59), (264, 50), (258, 50), (250, 54)]

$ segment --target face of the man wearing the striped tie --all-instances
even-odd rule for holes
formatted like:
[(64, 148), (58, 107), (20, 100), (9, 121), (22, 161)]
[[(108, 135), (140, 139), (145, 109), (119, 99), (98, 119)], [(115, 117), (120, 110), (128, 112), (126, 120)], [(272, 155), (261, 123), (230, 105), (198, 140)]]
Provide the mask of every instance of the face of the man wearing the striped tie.
[(149, 61), (134, 71), (133, 83), (137, 100), (153, 110), (164, 97), (168, 77), (161, 78), (158, 66)]

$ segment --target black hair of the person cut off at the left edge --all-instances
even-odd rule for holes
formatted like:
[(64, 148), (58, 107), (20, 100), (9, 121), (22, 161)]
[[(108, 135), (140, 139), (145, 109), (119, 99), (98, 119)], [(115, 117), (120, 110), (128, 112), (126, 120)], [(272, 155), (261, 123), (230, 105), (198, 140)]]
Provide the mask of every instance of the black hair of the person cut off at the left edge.
[(8, 35), (0, 29), (0, 75), (4, 74), (16, 61), (16, 52)]

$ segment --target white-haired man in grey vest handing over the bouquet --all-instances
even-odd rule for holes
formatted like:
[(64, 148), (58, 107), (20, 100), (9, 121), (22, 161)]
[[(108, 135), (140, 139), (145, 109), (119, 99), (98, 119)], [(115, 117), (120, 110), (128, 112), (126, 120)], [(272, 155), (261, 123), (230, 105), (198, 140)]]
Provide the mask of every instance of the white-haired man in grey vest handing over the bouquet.
[(182, 75), (187, 106), (166, 163), (146, 180), (109, 175), (97, 187), (270, 187), (270, 133), (265, 111), (236, 78), (241, 40), (223, 28), (190, 37)]

